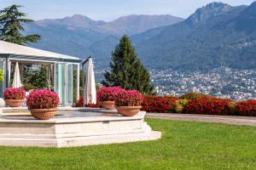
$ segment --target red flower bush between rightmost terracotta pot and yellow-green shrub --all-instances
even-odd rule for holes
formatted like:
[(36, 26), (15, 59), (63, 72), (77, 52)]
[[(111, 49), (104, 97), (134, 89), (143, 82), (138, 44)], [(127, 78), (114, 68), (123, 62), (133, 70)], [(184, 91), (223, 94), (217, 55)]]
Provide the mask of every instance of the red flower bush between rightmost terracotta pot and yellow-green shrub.
[(176, 100), (177, 98), (172, 96), (158, 97), (146, 95), (143, 97), (142, 110), (155, 113), (169, 113), (172, 112), (172, 106)]

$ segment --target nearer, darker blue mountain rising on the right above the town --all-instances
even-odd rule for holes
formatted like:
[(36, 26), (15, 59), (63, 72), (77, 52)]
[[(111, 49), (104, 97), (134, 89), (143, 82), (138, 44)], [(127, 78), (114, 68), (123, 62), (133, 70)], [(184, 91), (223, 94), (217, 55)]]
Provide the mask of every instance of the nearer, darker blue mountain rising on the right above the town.
[[(137, 54), (148, 68), (155, 69), (256, 68), (253, 45), (233, 48), (235, 44), (255, 40), (255, 22), (252, 23), (256, 18), (254, 4), (231, 7), (224, 3), (210, 3), (196, 10), (187, 20), (167, 26), (158, 35), (137, 43)], [(197, 14), (199, 11), (200, 14)], [(202, 13), (207, 17), (202, 18)], [(238, 20), (241, 16), (245, 17)], [(247, 31), (248, 26), (250, 31)], [(155, 59), (164, 62), (151, 65)]]

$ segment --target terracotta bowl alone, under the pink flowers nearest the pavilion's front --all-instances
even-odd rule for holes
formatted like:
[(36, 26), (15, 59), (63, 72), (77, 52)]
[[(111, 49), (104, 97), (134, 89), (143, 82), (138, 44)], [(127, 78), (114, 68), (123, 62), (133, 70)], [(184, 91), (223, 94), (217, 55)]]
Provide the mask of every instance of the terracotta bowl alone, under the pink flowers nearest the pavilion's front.
[(31, 114), (33, 117), (39, 120), (49, 120), (50, 118), (55, 116), (55, 112), (57, 111), (57, 108), (55, 109), (31, 109)]

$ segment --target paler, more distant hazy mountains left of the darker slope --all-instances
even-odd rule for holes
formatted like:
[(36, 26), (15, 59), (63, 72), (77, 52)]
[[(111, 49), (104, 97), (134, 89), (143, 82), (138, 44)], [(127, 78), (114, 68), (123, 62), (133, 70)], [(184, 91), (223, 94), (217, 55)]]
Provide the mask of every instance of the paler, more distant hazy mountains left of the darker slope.
[(63, 19), (38, 20), (26, 26), (26, 34), (38, 33), (42, 36), (42, 40), (32, 44), (32, 47), (81, 58), (93, 55), (99, 68), (102, 65), (106, 68), (111, 51), (121, 35), (170, 26), (182, 20), (172, 15), (128, 15), (105, 22), (75, 14)]

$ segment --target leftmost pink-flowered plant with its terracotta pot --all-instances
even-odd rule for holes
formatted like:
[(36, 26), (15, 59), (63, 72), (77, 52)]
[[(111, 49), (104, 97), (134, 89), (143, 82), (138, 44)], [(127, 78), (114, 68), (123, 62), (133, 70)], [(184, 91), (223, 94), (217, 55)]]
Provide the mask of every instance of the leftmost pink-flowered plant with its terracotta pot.
[(19, 107), (24, 103), (26, 91), (23, 88), (6, 88), (3, 99), (11, 107)]

